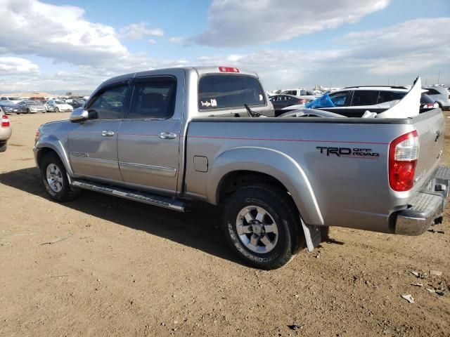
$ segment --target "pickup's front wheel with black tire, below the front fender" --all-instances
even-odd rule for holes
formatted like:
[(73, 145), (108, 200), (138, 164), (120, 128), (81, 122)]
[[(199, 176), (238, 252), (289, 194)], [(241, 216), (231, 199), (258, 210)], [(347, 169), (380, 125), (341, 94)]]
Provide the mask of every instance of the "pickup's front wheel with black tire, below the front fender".
[[(39, 163), (41, 169), (41, 179), (44, 187), (51, 199), (59, 202), (70, 201), (78, 197), (79, 192), (70, 188), (68, 175), (63, 162), (55, 153), (46, 154)], [(49, 176), (47, 175), (49, 173)], [(53, 177), (53, 178), (51, 178)], [(54, 184), (49, 180), (57, 180)]]

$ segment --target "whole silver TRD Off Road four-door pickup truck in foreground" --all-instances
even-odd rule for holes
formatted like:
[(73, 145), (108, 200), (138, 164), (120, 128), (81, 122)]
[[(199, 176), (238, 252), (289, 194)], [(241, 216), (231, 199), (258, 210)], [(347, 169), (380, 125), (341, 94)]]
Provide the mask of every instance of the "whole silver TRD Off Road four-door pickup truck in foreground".
[(275, 118), (257, 74), (233, 67), (105, 81), (70, 120), (44, 124), (34, 157), (50, 197), (83, 189), (186, 211), (221, 207), (232, 249), (273, 269), (319, 227), (421, 234), (442, 219), (445, 119)]

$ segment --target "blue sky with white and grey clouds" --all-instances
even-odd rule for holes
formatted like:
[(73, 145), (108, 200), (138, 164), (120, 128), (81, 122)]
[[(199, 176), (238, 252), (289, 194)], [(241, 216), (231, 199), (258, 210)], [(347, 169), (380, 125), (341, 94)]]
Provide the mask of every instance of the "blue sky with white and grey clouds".
[(450, 0), (0, 0), (0, 91), (218, 65), (266, 90), (450, 84)]

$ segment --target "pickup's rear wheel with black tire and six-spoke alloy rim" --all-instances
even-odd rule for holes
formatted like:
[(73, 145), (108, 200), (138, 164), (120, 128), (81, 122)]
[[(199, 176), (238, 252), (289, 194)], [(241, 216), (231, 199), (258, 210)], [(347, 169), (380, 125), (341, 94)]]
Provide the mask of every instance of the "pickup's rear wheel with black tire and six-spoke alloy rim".
[(250, 185), (234, 192), (224, 205), (223, 228), (239, 258), (264, 270), (289, 263), (304, 242), (293, 200), (271, 185)]

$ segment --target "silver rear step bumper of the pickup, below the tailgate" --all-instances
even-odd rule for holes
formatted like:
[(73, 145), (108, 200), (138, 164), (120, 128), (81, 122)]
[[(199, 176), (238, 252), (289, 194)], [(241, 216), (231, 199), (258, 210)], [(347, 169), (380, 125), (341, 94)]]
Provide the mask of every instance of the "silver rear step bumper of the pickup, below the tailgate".
[(435, 172), (417, 192), (407, 209), (397, 213), (395, 234), (419, 235), (442, 216), (449, 196), (450, 167), (437, 166)]

